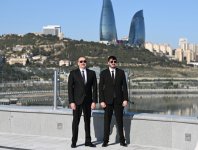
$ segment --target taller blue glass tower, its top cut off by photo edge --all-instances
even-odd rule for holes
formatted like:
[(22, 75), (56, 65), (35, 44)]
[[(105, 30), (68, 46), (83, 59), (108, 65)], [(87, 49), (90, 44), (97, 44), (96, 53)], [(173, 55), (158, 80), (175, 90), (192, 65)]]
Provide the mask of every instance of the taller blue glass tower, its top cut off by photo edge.
[(111, 0), (103, 0), (100, 18), (100, 41), (117, 41), (117, 31)]

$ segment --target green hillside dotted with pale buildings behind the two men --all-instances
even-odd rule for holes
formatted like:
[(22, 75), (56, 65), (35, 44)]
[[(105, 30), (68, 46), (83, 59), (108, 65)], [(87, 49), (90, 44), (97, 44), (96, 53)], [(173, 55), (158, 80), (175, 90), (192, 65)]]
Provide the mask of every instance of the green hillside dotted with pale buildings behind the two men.
[[(140, 77), (197, 75), (195, 73), (188, 74), (185, 71), (184, 73), (177, 72), (180, 69), (175, 68), (185, 70), (189, 67), (169, 59), (166, 55), (156, 55), (147, 49), (130, 47), (122, 43), (106, 45), (33, 33), (0, 36), (2, 81), (32, 78), (51, 79), (55, 68), (69, 72), (76, 67), (76, 60), (79, 56), (87, 57), (89, 67), (104, 68), (107, 57), (110, 55), (117, 56), (118, 66), (127, 70), (135, 70), (135, 74)], [(169, 71), (164, 72), (167, 68)], [(146, 75), (144, 72), (146, 70), (153, 70), (153, 72), (150, 71), (149, 75)], [(159, 71), (158, 74), (154, 73), (156, 70)]]

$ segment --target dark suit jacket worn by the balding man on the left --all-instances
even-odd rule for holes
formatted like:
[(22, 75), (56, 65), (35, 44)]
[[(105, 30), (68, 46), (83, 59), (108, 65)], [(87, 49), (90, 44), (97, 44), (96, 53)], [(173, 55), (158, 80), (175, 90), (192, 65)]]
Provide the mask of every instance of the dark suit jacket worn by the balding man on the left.
[(86, 103), (97, 103), (97, 79), (94, 71), (86, 69), (87, 83), (83, 82), (80, 69), (70, 72), (68, 81), (69, 103), (80, 105)]

